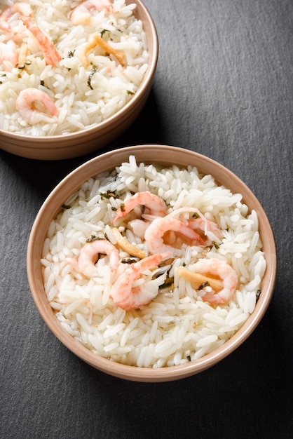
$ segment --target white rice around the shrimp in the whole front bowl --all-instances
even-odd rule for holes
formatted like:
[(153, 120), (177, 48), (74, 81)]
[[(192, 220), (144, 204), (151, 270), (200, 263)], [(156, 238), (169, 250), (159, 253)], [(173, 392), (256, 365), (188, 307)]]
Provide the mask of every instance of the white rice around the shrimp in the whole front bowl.
[[(141, 189), (160, 193), (168, 212), (193, 200), (192, 206), (203, 215), (225, 224), (224, 238), (212, 248), (183, 244), (169, 266), (174, 283), (140, 309), (125, 310), (111, 298), (113, 279), (107, 257), (99, 259), (97, 276), (91, 278), (75, 271), (71, 258), (77, 259), (91, 236), (104, 238), (106, 233), (116, 243), (111, 234), (115, 216), (111, 207), (118, 208), (131, 196), (130, 191)], [(120, 199), (102, 197), (107, 191), (121, 192)], [(137, 165), (135, 156), (111, 173), (90, 178), (60, 209), (43, 244), (46, 294), (64, 330), (97, 355), (139, 367), (188, 363), (222, 346), (253, 313), (266, 270), (257, 212), (248, 212), (241, 198), (191, 166)], [(125, 227), (119, 229), (124, 233)], [(143, 240), (133, 233), (132, 238), (147, 252)], [(129, 256), (120, 250), (121, 258)], [(226, 304), (203, 302), (191, 283), (177, 276), (178, 266), (192, 268), (203, 257), (225, 261), (238, 274), (237, 290)]]

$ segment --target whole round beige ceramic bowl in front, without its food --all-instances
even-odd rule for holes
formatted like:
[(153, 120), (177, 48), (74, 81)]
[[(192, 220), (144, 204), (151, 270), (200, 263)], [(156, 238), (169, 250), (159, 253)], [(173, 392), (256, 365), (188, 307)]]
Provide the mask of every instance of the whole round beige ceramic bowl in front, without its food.
[[(231, 189), (232, 192), (243, 194), (243, 202), (248, 205), (250, 210), (256, 210), (259, 216), (259, 232), (264, 245), (267, 269), (256, 309), (236, 335), (229, 339), (222, 347), (199, 360), (185, 365), (163, 367), (161, 369), (141, 368), (121, 365), (97, 356), (79, 342), (76, 342), (71, 335), (62, 329), (48, 304), (44, 291), (40, 258), (43, 241), (51, 219), (53, 219), (57, 211), (60, 210), (62, 203), (64, 203), (69, 195), (76, 191), (83, 182), (104, 170), (114, 169), (115, 166), (119, 166), (123, 161), (128, 161), (130, 154), (135, 155), (137, 163), (154, 163), (155, 161), (164, 166), (170, 166), (172, 163), (179, 166), (187, 166), (189, 164), (196, 166), (202, 173), (211, 174), (219, 183), (224, 184), (224, 186)], [(161, 145), (141, 145), (107, 152), (106, 154), (93, 158), (65, 177), (50, 196), (48, 196), (45, 203), (43, 203), (32, 227), (27, 250), (27, 273), (32, 297), (34, 298), (39, 313), (50, 330), (68, 349), (89, 365), (107, 374), (114, 375), (115, 377), (132, 381), (171, 381), (189, 377), (218, 363), (237, 349), (254, 331), (266, 312), (273, 295), (276, 264), (273, 232), (266, 213), (257, 198), (252, 194), (252, 191), (250, 191), (236, 175), (231, 173), (230, 170), (210, 158), (186, 149)]]

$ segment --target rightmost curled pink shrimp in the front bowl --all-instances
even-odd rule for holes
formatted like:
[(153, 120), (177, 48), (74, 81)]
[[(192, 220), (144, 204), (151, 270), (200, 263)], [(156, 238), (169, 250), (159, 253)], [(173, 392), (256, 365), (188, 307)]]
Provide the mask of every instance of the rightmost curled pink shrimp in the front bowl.
[(213, 304), (224, 304), (233, 297), (238, 284), (238, 276), (236, 271), (224, 261), (219, 259), (200, 259), (194, 264), (196, 273), (210, 275), (212, 278), (218, 278), (223, 283), (222, 290), (206, 292), (202, 299), (204, 302)]

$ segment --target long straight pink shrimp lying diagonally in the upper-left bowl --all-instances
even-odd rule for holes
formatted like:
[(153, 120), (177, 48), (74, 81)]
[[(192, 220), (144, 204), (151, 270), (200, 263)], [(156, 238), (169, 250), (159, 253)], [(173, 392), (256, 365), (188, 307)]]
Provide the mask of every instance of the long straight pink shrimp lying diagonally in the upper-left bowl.
[(43, 33), (43, 31), (31, 18), (20, 15), (20, 20), (22, 20), (27, 29), (29, 29), (29, 32), (31, 32), (38, 41), (40, 49), (43, 52), (43, 58), (45, 59), (46, 65), (51, 65), (54, 67), (56, 62), (62, 60), (62, 56), (58, 52), (57, 48), (55, 48), (52, 41), (50, 41), (48, 36)]

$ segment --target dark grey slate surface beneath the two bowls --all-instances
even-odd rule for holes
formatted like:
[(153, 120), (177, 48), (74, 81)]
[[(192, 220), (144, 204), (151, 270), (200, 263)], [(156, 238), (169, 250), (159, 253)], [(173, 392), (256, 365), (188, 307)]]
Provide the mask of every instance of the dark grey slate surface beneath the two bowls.
[[(127, 133), (90, 156), (41, 162), (0, 150), (0, 436), (292, 438), (291, 0), (145, 0), (158, 30), (154, 86)], [(252, 336), (181, 381), (109, 377), (48, 330), (29, 292), (26, 250), (41, 204), (62, 177), (129, 144), (192, 149), (254, 191), (275, 234), (278, 276)]]

